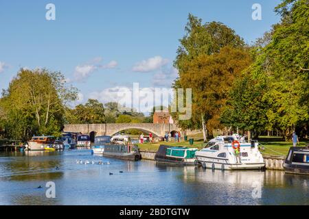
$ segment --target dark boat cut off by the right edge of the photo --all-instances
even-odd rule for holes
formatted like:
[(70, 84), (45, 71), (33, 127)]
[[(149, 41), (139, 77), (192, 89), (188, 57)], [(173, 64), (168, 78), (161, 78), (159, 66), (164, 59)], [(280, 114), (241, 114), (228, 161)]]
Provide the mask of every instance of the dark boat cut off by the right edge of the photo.
[(309, 146), (291, 147), (283, 166), (286, 173), (309, 175)]

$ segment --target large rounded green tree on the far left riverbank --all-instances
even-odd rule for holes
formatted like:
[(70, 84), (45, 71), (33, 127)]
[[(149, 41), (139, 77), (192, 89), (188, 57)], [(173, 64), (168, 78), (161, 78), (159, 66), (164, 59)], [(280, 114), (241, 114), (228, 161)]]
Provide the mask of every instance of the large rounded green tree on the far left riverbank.
[(19, 70), (0, 101), (6, 136), (27, 140), (34, 134), (58, 135), (65, 123), (65, 105), (76, 96), (76, 88), (67, 88), (59, 72)]

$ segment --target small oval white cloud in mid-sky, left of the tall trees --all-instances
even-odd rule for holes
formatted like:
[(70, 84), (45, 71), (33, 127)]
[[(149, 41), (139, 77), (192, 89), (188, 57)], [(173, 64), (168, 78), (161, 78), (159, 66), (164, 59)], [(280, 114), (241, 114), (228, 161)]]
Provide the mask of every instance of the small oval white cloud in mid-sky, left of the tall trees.
[(146, 73), (152, 70), (157, 70), (162, 66), (165, 66), (165, 64), (168, 64), (168, 60), (163, 59), (161, 56), (150, 57), (148, 60), (143, 60), (135, 64), (135, 66), (133, 66), (133, 71)]

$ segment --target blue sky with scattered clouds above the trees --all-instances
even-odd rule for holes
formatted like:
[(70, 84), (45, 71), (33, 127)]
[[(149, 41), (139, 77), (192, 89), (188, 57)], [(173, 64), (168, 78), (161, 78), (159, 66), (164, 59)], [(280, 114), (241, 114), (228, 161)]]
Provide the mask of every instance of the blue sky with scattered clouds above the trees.
[[(0, 89), (21, 67), (60, 70), (89, 97), (110, 101), (108, 89), (139, 82), (140, 87), (170, 87), (172, 68), (187, 14), (203, 22), (220, 21), (247, 43), (279, 21), (279, 0), (17, 1), (0, 2)], [(45, 6), (56, 5), (56, 21)], [(251, 6), (262, 5), (262, 21)]]

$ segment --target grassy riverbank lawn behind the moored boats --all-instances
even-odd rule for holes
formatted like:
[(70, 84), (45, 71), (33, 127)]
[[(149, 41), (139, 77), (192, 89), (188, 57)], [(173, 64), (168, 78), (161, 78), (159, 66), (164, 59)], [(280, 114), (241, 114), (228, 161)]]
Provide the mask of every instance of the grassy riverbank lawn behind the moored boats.
[[(144, 143), (144, 144), (138, 144), (139, 149), (141, 151), (157, 151), (159, 149), (160, 144), (170, 145), (170, 146), (190, 146), (198, 149), (203, 148), (203, 140), (201, 139), (203, 136), (189, 136), (189, 138), (194, 138), (194, 144), (190, 145), (189, 141), (183, 141), (183, 142), (174, 142), (174, 139), (172, 139), (172, 142), (157, 142), (157, 143)], [(277, 156), (285, 156), (288, 153), (288, 150), (291, 146), (293, 146), (292, 142), (285, 142), (280, 137), (268, 137), (268, 136), (260, 136), (258, 139), (260, 144), (264, 146), (264, 151), (261, 151), (261, 153), (265, 155), (277, 155)], [(306, 144), (309, 144), (309, 142), (299, 142), (298, 146), (306, 146)], [(262, 146), (261, 146), (262, 147)]]

